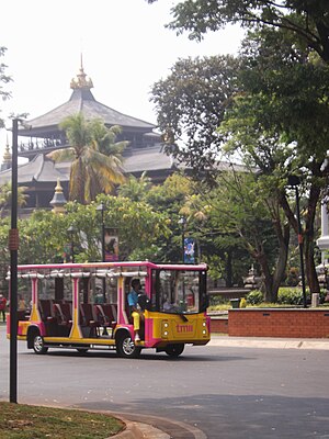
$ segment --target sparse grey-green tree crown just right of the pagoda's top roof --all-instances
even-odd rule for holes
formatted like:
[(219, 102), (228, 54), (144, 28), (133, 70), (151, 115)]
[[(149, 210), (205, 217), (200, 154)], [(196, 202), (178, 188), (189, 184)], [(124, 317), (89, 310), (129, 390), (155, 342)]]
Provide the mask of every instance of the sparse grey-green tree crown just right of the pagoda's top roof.
[(180, 59), (152, 87), (166, 150), (195, 173), (211, 172), (219, 159), (216, 130), (238, 91), (238, 70), (239, 60), (231, 56)]

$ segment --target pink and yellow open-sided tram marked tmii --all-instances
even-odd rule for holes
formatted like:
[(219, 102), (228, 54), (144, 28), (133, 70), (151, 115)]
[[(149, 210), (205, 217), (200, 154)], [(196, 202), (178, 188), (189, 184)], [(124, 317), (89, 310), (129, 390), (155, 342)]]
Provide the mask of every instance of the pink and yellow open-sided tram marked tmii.
[[(154, 348), (178, 357), (185, 345), (209, 341), (206, 271), (206, 264), (150, 261), (19, 266), (19, 295), (30, 309), (18, 311), (18, 340), (37, 354), (52, 348), (115, 349), (136, 358)], [(140, 341), (134, 339), (127, 302), (136, 278), (143, 286)]]

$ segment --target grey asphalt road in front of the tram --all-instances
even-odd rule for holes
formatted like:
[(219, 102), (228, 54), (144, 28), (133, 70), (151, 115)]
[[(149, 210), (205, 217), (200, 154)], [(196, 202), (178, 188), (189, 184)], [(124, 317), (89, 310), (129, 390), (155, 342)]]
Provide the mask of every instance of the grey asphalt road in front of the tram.
[[(8, 401), (4, 336), (0, 326), (0, 399)], [(144, 352), (36, 356), (19, 342), (19, 402), (168, 418), (214, 439), (329, 438), (328, 351), (188, 347), (177, 360)]]

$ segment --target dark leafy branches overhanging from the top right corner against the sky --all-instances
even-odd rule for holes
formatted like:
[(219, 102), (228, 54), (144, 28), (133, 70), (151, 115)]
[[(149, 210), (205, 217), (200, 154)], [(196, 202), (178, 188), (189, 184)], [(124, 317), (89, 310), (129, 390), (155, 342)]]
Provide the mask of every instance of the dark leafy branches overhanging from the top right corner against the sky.
[[(157, 0), (148, 0), (154, 3)], [(217, 31), (228, 23), (284, 30), (296, 43), (311, 48), (329, 63), (329, 3), (327, 0), (184, 0), (172, 9), (168, 27), (178, 33), (190, 32), (191, 40), (201, 40), (207, 31)]]

